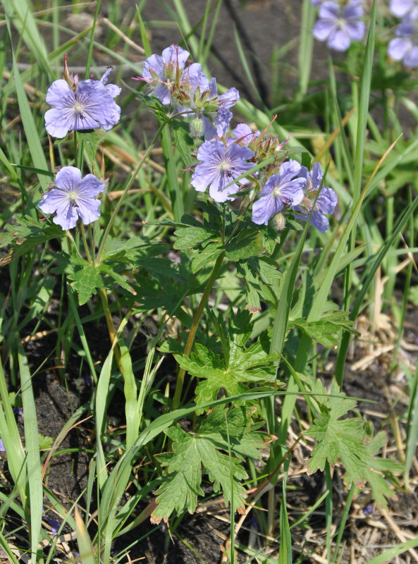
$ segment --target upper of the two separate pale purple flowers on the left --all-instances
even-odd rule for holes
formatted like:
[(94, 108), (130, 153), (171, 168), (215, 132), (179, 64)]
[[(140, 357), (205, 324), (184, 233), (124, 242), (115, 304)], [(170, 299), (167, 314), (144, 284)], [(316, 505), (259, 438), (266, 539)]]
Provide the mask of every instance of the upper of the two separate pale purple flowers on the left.
[(45, 114), (45, 127), (52, 137), (65, 137), (68, 131), (113, 128), (121, 117), (121, 108), (113, 100), (121, 92), (114, 84), (106, 85), (109, 68), (100, 80), (73, 81), (73, 88), (63, 78), (52, 82), (47, 102), (54, 106)]

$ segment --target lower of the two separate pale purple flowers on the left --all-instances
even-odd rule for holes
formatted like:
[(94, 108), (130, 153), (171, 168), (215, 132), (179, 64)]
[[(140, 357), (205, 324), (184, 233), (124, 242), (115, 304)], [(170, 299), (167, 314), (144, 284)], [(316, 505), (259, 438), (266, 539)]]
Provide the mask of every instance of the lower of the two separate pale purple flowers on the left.
[(56, 212), (54, 223), (66, 230), (75, 227), (79, 216), (85, 225), (97, 220), (100, 200), (96, 197), (104, 190), (98, 178), (93, 174), (81, 178), (78, 168), (63, 166), (56, 173), (55, 186), (38, 204), (44, 214)]

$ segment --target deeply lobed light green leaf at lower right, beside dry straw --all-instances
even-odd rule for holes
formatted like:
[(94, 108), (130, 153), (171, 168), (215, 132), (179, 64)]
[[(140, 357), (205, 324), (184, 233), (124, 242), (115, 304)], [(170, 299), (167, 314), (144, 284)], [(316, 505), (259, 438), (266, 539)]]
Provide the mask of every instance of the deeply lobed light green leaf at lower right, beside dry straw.
[(359, 417), (342, 419), (356, 407), (357, 402), (347, 398), (335, 380), (327, 392), (321, 381), (313, 382), (306, 377), (302, 379), (312, 392), (311, 400), (316, 411), (312, 427), (305, 433), (316, 439), (308, 471), (322, 472), (325, 462), (330, 465), (341, 463), (345, 467), (345, 484), (361, 488), (368, 482), (376, 503), (386, 508), (386, 500), (395, 498), (395, 493), (388, 486), (384, 474), (402, 471), (398, 463), (377, 456), (386, 443), (386, 434), (381, 432), (372, 438)]

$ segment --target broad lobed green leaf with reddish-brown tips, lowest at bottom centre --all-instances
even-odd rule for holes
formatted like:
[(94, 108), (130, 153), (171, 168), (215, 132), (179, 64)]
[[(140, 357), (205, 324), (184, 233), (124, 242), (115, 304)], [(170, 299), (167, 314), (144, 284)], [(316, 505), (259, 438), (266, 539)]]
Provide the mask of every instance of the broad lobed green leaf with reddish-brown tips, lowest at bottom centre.
[(166, 429), (173, 445), (170, 453), (157, 456), (168, 474), (156, 491), (152, 520), (168, 520), (173, 511), (180, 514), (187, 509), (193, 513), (197, 496), (204, 495), (200, 487), (203, 473), (214, 484), (215, 492), (222, 490), (226, 505), (233, 503), (241, 513), (245, 500), (241, 482), (247, 478), (242, 461), (247, 456), (260, 459), (260, 450), (271, 440), (257, 427), (259, 424), (254, 425), (247, 408), (233, 407), (228, 411), (217, 406), (197, 433), (186, 433), (180, 425)]

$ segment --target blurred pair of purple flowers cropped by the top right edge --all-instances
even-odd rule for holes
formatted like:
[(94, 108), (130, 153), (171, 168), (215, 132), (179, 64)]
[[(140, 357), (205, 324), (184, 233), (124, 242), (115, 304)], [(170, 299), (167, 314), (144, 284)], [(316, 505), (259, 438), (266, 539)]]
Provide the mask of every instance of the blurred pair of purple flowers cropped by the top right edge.
[(391, 0), (389, 9), (402, 22), (388, 44), (388, 55), (405, 66), (418, 67), (418, 0)]

